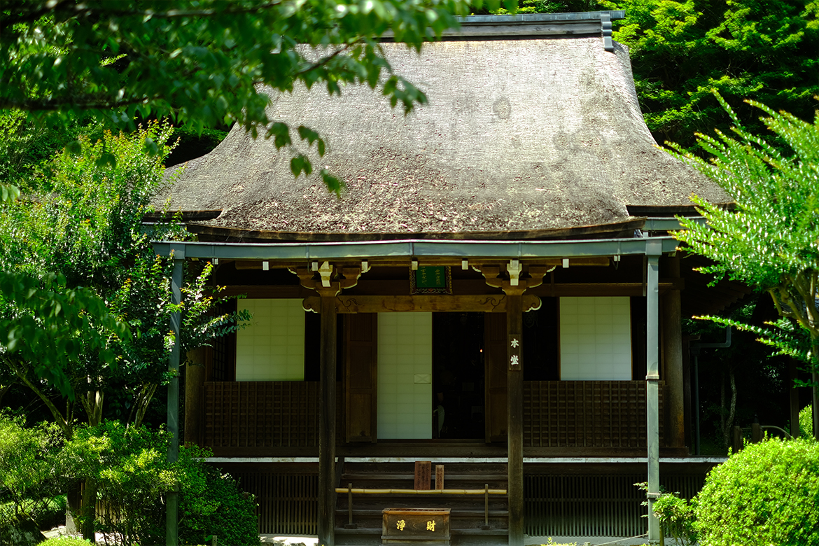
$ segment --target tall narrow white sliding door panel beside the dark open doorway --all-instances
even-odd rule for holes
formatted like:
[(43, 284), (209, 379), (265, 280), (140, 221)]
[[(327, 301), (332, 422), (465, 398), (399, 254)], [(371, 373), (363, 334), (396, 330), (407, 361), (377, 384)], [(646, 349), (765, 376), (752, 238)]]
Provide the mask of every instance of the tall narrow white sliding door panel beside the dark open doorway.
[(378, 314), (378, 438), (432, 438), (432, 313)]

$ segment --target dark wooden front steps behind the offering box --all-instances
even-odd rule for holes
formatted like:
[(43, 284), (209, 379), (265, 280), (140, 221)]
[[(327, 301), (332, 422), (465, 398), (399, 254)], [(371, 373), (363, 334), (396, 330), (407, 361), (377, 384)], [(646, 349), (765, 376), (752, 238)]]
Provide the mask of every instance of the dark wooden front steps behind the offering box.
[[(436, 464), (441, 463), (432, 463), (432, 489), (435, 488)], [(443, 464), (445, 490), (484, 490), (486, 485), (490, 490), (506, 490), (506, 465), (503, 463)], [(414, 472), (414, 463), (346, 463), (339, 487), (412, 490)], [(354, 493), (352, 507), (349, 497), (346, 492), (337, 494), (337, 546), (382, 544), (384, 508), (450, 508), (450, 544), (453, 546), (509, 542), (509, 508), (505, 494), (488, 495), (488, 521), (485, 494)], [(415, 540), (414, 544), (428, 543)]]

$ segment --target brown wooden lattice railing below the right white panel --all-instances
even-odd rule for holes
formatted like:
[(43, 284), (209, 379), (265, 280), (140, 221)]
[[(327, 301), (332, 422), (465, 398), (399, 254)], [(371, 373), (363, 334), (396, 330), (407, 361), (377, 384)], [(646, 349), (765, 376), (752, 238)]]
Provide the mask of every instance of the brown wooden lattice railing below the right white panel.
[(644, 448), (645, 437), (645, 381), (523, 382), (524, 447)]

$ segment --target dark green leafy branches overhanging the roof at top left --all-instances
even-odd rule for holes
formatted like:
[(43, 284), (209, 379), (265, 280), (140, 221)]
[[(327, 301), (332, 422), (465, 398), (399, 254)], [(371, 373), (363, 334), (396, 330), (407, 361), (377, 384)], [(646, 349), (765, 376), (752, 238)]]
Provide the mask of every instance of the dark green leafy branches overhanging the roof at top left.
[[(464, 0), (7, 0), (0, 109), (61, 127), (86, 113), (129, 130), (136, 117), (170, 116), (197, 133), (236, 121), (284, 147), (290, 128), (268, 118), (260, 84), (280, 92), (319, 84), (340, 94), (345, 83), (363, 83), (409, 111), (427, 98), (393, 72), (378, 37), (391, 33), (419, 49), (467, 7)], [(322, 175), (337, 189), (336, 178)]]

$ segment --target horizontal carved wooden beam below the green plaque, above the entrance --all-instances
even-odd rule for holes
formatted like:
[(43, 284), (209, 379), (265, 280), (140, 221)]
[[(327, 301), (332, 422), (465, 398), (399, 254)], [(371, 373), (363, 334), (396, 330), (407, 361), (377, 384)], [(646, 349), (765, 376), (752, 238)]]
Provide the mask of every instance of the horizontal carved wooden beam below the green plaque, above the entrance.
[[(306, 297), (302, 306), (307, 311), (321, 312), (319, 296)], [(337, 313), (505, 313), (507, 296), (337, 296)], [(523, 296), (523, 310), (541, 309), (537, 296)]]

